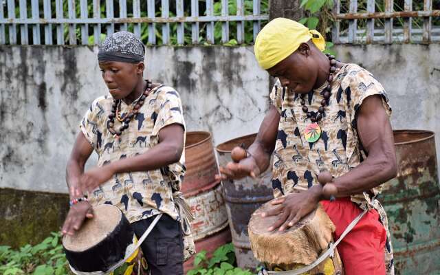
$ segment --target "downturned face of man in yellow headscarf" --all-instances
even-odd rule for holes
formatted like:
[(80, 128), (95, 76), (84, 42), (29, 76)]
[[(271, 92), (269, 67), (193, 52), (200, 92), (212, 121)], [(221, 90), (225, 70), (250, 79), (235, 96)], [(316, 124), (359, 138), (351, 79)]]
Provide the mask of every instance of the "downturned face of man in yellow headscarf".
[(310, 49), (302, 46), (283, 61), (267, 70), (271, 76), (278, 77), (281, 85), (296, 94), (307, 94), (314, 88), (318, 69)]

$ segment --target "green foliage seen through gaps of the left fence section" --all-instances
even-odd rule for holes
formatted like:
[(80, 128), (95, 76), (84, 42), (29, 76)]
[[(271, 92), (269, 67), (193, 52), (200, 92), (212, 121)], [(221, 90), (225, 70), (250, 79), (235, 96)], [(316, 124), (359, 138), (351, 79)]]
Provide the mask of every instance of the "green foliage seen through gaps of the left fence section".
[[(75, 6), (75, 17), (80, 18), (80, 1), (76, 1)], [(91, 3), (92, 1), (88, 1), (87, 5), (87, 17), (93, 18), (93, 5)], [(52, 18), (56, 18), (56, 5), (55, 1), (51, 1), (52, 3)], [(199, 3), (199, 16), (205, 16), (206, 15), (206, 1), (198, 1)], [(253, 14), (253, 0), (243, 0), (244, 4), (244, 14), (250, 15)], [(113, 15), (115, 18), (120, 17), (120, 10), (118, 1), (113, 1)], [(214, 0), (214, 16), (221, 15), (221, 1), (220, 0)], [(228, 14), (229, 15), (236, 15), (236, 0), (228, 0)], [(63, 17), (69, 18), (68, 13), (68, 5), (67, 1), (63, 1)], [(141, 1), (140, 5), (140, 17), (148, 17), (147, 14), (147, 5), (146, 1)], [(261, 0), (261, 14), (268, 14), (269, 10), (269, 0)], [(30, 7), (30, 3), (28, 3), (28, 18), (32, 18), (32, 9)], [(131, 18), (133, 17), (133, 0), (126, 0), (126, 12), (127, 17)], [(20, 18), (20, 10), (19, 5), (15, 8), (15, 14), (17, 18)], [(43, 14), (43, 7), (40, 7), (40, 18), (44, 18)], [(176, 16), (176, 7), (175, 7), (175, 1), (170, 1), (170, 7), (169, 7), (169, 17), (175, 17)], [(190, 0), (184, 0), (184, 17), (190, 17), (191, 16), (191, 6), (190, 6)], [(106, 12), (106, 1), (100, 0), (100, 17), (106, 18), (107, 12)], [(155, 1), (155, 17), (162, 17), (162, 6), (161, 1)], [(261, 21), (261, 27), (267, 23), (266, 21)], [(177, 25), (180, 23), (169, 23), (170, 25), (170, 45), (178, 45), (177, 43)], [(208, 41), (206, 40), (206, 27), (209, 23), (208, 22), (201, 22), (199, 23), (199, 41), (197, 44), (199, 45), (209, 45)], [(74, 27), (74, 32), (76, 34), (76, 43), (80, 43), (80, 41), (83, 40), (81, 37), (81, 26), (84, 26), (84, 24), (75, 24), (75, 25), (69, 25), (69, 24), (62, 24), (63, 25), (63, 34), (64, 34), (64, 41), (67, 44), (69, 41), (69, 28)], [(89, 24), (87, 25), (87, 30), (89, 33), (89, 36), (87, 37), (87, 41), (89, 45), (94, 45), (94, 25), (96, 24)], [(101, 25), (101, 34), (100, 34), (100, 40), (105, 39), (107, 34), (107, 26), (109, 24), (102, 24)], [(126, 25), (127, 30), (129, 32), (134, 32), (134, 26), (137, 25), (137, 23), (126, 23), (126, 24), (114, 24), (115, 25), (115, 32), (120, 30), (121, 25)], [(148, 45), (148, 23), (141, 23), (140, 24), (140, 34), (141, 34), (141, 40), (146, 45)], [(155, 36), (156, 36), (156, 44), (162, 45), (162, 25), (164, 23), (154, 23), (154, 29), (155, 29)], [(222, 32), (222, 22), (216, 22), (214, 23), (214, 44), (222, 45), (223, 42), (221, 41), (221, 32)], [(245, 34), (244, 34), (244, 41), (243, 44), (251, 44), (253, 43), (254, 37), (253, 37), (253, 22), (252, 21), (245, 21), (244, 23), (245, 27)], [(52, 25), (52, 39), (54, 43), (56, 43), (56, 28), (59, 26), (59, 24)], [(192, 23), (184, 23), (184, 45), (192, 45), (192, 33), (191, 33)], [(17, 28), (17, 41), (20, 41), (20, 32), (21, 28)], [(29, 28), (28, 30), (29, 36), (32, 36), (32, 28)], [(236, 21), (230, 21), (229, 22), (229, 40), (227, 43), (224, 43), (224, 45), (237, 45), (236, 41), (236, 32), (237, 32), (237, 22)], [(9, 41), (8, 39), (8, 27), (6, 28), (6, 41)], [(43, 26), (41, 26), (41, 41), (44, 41), (44, 29)], [(32, 38), (30, 38), (30, 41), (32, 41)], [(19, 42), (20, 43), (20, 42)]]

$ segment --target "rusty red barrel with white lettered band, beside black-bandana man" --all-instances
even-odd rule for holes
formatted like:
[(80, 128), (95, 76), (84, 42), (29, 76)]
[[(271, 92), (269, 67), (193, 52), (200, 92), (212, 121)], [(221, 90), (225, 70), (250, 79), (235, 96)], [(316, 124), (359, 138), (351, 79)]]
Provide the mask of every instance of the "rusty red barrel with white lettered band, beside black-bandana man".
[[(231, 241), (223, 190), (215, 179), (217, 161), (208, 132), (186, 133), (186, 173), (181, 192), (184, 193), (195, 220), (191, 223), (192, 236), (197, 252), (206, 250), (208, 256), (219, 246)], [(184, 263), (190, 270), (194, 257)]]

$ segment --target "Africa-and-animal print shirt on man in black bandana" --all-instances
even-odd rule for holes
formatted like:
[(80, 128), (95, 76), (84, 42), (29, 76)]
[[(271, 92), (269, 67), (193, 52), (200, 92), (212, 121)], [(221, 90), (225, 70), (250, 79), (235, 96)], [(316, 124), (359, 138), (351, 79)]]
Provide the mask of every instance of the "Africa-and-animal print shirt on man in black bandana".
[[(123, 101), (120, 113), (133, 109), (135, 100), (127, 105)], [(124, 157), (145, 153), (159, 143), (159, 131), (170, 124), (185, 128), (180, 96), (175, 89), (161, 86), (153, 89), (144, 104), (122, 132), (120, 141), (115, 140), (107, 129), (113, 98), (102, 96), (94, 100), (80, 123), (87, 140), (98, 153), (98, 166), (115, 162)], [(115, 129), (120, 122), (115, 120)], [(118, 173), (99, 188), (89, 193), (92, 205), (110, 203), (124, 212), (131, 223), (155, 214), (166, 213), (177, 219), (173, 192), (180, 190), (185, 173), (185, 155), (179, 162), (156, 170)]]

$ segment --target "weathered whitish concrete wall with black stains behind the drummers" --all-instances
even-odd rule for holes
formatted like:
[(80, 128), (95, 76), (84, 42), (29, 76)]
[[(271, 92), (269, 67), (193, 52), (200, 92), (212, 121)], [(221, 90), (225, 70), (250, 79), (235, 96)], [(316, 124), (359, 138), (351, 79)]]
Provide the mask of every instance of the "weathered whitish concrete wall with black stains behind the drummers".
[[(395, 129), (440, 134), (440, 45), (340, 45), (336, 52), (382, 82)], [(180, 92), (189, 130), (212, 132), (215, 144), (258, 131), (270, 84), (252, 47), (148, 47), (146, 63), (148, 78)], [(78, 122), (106, 92), (96, 48), (0, 47), (0, 188), (67, 192)]]

